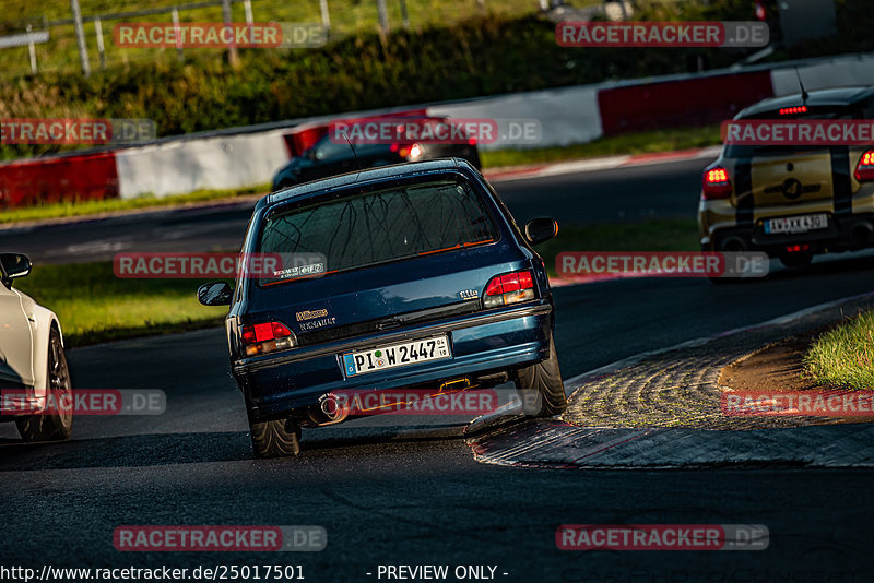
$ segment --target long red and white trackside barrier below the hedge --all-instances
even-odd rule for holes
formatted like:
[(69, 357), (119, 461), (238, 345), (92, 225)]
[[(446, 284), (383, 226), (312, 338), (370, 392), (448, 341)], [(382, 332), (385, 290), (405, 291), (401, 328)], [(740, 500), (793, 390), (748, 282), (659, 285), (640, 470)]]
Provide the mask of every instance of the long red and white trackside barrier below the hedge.
[[(541, 124), (541, 140), (517, 147), (566, 146), (602, 135), (730, 119), (763, 98), (798, 93), (795, 68), (788, 64), (562, 87), (344, 117), (428, 114), (534, 118)], [(815, 59), (798, 63), (798, 70), (808, 91), (874, 84), (874, 55)], [(270, 182), (291, 155), (311, 144), (330, 119), (309, 118), (290, 121), (283, 129), (238, 128), (237, 133), (224, 130), (139, 147), (7, 163), (0, 165), (0, 209), (262, 185)], [(292, 129), (295, 124), (297, 128)], [(480, 147), (505, 146), (484, 143)]]

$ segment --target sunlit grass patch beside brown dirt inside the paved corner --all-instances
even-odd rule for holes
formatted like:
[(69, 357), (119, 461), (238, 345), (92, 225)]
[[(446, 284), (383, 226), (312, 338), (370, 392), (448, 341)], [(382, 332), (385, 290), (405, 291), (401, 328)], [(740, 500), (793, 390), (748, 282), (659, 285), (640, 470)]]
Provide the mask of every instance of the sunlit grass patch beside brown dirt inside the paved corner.
[(874, 311), (817, 337), (804, 355), (804, 367), (817, 384), (874, 389)]

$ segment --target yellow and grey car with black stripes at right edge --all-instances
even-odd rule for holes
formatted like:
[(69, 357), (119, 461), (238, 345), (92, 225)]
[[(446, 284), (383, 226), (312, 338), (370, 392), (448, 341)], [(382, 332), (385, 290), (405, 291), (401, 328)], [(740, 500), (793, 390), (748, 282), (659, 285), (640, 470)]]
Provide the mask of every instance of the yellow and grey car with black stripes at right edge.
[[(734, 120), (874, 120), (874, 87), (772, 97)], [(787, 266), (874, 246), (874, 144), (727, 141), (704, 171), (704, 251), (764, 251)]]

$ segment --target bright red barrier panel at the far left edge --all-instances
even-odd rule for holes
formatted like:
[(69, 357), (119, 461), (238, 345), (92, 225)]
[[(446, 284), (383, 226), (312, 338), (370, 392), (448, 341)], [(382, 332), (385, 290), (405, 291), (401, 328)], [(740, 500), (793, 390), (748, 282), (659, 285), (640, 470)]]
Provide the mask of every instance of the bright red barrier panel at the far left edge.
[(16, 160), (0, 166), (0, 209), (118, 198), (113, 152)]

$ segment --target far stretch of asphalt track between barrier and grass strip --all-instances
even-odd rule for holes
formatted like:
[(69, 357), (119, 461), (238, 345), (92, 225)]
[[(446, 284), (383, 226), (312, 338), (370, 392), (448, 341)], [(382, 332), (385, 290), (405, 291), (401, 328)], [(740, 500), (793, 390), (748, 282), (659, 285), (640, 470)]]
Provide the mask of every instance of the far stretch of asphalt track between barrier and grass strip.
[[(708, 162), (695, 159), (494, 185), (520, 223), (550, 214), (575, 223), (694, 217), (701, 170)], [(0, 249), (15, 249), (33, 261), (47, 263), (98, 261), (121, 251), (236, 251), (253, 205), (250, 199), (51, 226), (0, 228)]]

